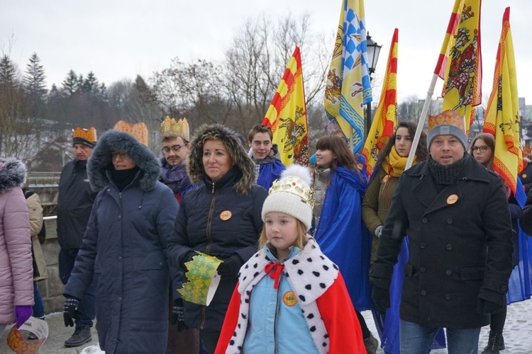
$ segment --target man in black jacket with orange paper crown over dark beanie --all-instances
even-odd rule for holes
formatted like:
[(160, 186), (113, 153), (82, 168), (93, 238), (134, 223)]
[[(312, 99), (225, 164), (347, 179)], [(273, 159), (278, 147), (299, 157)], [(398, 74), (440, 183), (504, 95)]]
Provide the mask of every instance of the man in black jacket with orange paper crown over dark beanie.
[[(79, 248), (91, 215), (96, 193), (91, 190), (87, 178), (87, 160), (96, 146), (94, 127), (77, 127), (72, 132), (74, 161), (63, 167), (57, 197), (57, 241), (59, 241), (59, 276), (67, 284), (74, 268)], [(94, 320), (94, 295), (96, 290), (89, 287), (87, 295), (79, 303), (79, 316), (75, 320), (74, 334), (65, 341), (66, 347), (77, 347), (92, 340), (91, 327)]]

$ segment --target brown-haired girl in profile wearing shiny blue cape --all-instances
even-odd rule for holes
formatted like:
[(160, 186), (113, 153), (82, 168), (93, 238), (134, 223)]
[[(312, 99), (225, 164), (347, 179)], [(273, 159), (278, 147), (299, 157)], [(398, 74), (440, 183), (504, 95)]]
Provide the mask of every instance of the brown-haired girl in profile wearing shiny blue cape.
[(342, 137), (321, 137), (316, 149), (313, 211), (316, 241), (345, 275), (367, 353), (375, 353), (379, 342), (360, 314), (371, 305), (368, 273), (371, 244), (360, 217), (366, 181)]

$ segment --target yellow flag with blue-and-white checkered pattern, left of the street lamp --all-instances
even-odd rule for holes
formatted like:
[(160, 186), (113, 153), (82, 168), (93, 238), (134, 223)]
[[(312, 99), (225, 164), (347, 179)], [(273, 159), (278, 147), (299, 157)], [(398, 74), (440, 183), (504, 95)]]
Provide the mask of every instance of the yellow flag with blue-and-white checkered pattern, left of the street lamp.
[(372, 101), (364, 0), (343, 0), (327, 74), (325, 111), (358, 151), (364, 141), (364, 105)]

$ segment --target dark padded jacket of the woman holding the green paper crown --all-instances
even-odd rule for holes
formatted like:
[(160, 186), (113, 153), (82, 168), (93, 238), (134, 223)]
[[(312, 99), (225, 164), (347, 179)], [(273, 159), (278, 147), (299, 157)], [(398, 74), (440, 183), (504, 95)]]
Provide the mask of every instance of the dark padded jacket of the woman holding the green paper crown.
[[(168, 240), (168, 256), (174, 266), (189, 261), (191, 251), (224, 261), (238, 254), (242, 263), (257, 252), (262, 231), (260, 213), (267, 192), (259, 185), (252, 185), (249, 193), (238, 194), (234, 185), (240, 176), (241, 172), (233, 167), (216, 183), (206, 178), (205, 185), (184, 195), (174, 233)], [(223, 220), (221, 214), (226, 211), (231, 212), (231, 217)], [(187, 326), (220, 331), (237, 281), (236, 273), (234, 277), (222, 277), (209, 307), (185, 302)]]

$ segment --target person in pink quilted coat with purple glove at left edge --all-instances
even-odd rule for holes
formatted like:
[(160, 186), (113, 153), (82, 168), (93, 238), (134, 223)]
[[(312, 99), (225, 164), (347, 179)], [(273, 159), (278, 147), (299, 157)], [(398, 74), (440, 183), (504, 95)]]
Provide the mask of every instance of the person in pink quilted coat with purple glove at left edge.
[(6, 325), (19, 328), (33, 313), (30, 217), (22, 192), (26, 168), (0, 159), (0, 336)]

